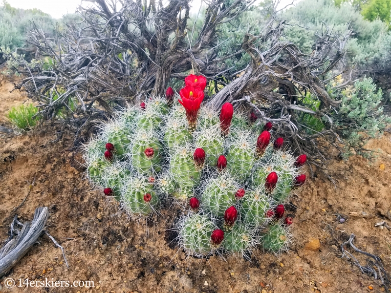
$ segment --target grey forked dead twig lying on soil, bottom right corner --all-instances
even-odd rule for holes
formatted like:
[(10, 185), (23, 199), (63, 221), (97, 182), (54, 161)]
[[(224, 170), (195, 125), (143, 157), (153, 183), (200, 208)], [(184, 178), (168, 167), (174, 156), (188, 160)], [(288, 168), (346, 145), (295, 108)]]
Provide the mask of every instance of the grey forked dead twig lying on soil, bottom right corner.
[[(382, 285), (384, 286), (384, 289), (386, 290), (386, 292), (390, 292), (389, 291), (389, 288), (391, 286), (390, 276), (388, 275), (388, 273), (384, 269), (381, 258), (376, 256), (376, 255), (374, 255), (374, 254), (371, 254), (369, 252), (359, 250), (357, 247), (355, 247), (354, 244), (353, 244), (353, 240), (354, 240), (355, 237), (356, 236), (354, 234), (351, 234), (350, 237), (349, 237), (349, 240), (344, 242), (341, 245), (342, 258), (346, 257), (349, 260), (353, 259), (354, 261), (351, 261), (351, 263), (353, 265), (359, 267), (361, 272), (363, 272), (365, 274), (368, 274), (369, 276), (373, 275), (375, 280), (377, 280), (379, 278), (381, 280)], [(344, 246), (346, 246), (346, 245), (349, 245), (356, 252), (360, 252), (362, 254), (365, 254), (365, 255), (369, 256), (374, 261), (372, 259), (370, 259), (370, 258), (367, 258), (367, 265), (366, 266), (362, 266), (360, 264), (360, 262), (353, 256), (353, 254), (351, 254), (349, 251), (347, 251), (344, 248)]]

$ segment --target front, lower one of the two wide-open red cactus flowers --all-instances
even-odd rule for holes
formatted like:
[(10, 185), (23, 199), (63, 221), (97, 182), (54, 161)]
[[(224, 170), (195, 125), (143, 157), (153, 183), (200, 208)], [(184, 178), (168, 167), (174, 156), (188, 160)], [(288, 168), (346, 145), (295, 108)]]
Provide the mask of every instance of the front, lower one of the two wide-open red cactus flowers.
[(185, 86), (179, 92), (182, 99), (178, 102), (185, 108), (187, 121), (191, 130), (197, 125), (199, 107), (204, 100), (204, 92), (199, 87)]

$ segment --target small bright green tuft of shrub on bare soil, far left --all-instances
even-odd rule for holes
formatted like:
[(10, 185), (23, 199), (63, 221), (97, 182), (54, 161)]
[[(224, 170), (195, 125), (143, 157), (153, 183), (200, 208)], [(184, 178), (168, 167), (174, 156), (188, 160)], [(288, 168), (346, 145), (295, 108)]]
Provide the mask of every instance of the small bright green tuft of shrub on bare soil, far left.
[(30, 130), (33, 128), (39, 117), (36, 115), (38, 112), (38, 108), (32, 104), (28, 105), (19, 105), (12, 107), (7, 117), (11, 121), (11, 123), (22, 130)]

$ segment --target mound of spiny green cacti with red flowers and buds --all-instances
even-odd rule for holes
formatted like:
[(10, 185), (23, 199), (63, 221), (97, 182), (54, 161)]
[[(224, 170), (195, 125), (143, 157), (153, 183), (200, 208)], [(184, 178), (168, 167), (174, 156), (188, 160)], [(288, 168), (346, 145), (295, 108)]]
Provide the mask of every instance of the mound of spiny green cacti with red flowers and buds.
[(88, 178), (132, 218), (181, 205), (176, 229), (189, 255), (287, 250), (284, 203), (305, 182), (306, 157), (256, 114), (202, 105), (206, 83), (190, 75), (178, 102), (170, 87), (118, 112), (86, 146)]

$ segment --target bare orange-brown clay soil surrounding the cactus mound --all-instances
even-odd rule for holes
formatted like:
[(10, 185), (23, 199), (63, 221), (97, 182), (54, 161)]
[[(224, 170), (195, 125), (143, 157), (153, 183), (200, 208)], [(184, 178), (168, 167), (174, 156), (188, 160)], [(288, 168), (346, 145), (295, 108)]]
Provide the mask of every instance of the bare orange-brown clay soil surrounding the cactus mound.
[[(5, 113), (25, 97), (9, 93), (12, 85), (2, 81), (0, 125), (11, 127)], [(251, 262), (236, 257), (187, 258), (172, 242), (170, 229), (179, 213), (165, 208), (155, 222), (135, 223), (118, 214), (101, 190), (92, 190), (81, 167), (82, 156), (73, 148), (72, 137), (57, 143), (55, 126), (42, 126), (21, 135), (3, 134), (0, 139), (0, 241), (7, 239), (14, 209), (22, 203), (29, 184), (35, 184), (17, 210), (22, 222), (31, 220), (38, 206), (50, 210), (49, 233), (65, 248), (67, 269), (61, 250), (46, 236), (32, 246), (6, 277), (2, 292), (116, 292), (116, 293), (282, 293), (282, 292), (384, 292), (379, 282), (341, 259), (340, 245), (351, 233), (358, 248), (375, 253), (391, 272), (391, 232), (374, 227), (391, 225), (391, 135), (369, 142), (381, 149), (372, 162), (353, 156), (347, 162), (332, 159), (328, 174), (308, 180), (292, 200), (288, 213), (295, 242), (279, 257), (255, 251)], [(6, 158), (8, 157), (8, 158)], [(4, 161), (4, 158), (5, 161)], [(12, 158), (14, 158), (12, 160)], [(369, 217), (349, 216), (365, 211)], [(336, 213), (348, 215), (345, 224)], [(148, 232), (147, 232), (148, 231)], [(305, 248), (309, 239), (320, 241), (320, 249)], [(365, 258), (354, 253), (365, 263)], [(4, 280), (74, 280), (94, 282), (90, 288), (5, 289)], [(371, 289), (372, 288), (372, 289)]]

